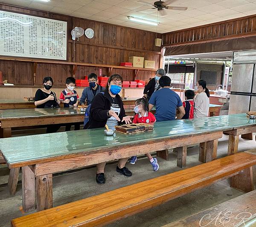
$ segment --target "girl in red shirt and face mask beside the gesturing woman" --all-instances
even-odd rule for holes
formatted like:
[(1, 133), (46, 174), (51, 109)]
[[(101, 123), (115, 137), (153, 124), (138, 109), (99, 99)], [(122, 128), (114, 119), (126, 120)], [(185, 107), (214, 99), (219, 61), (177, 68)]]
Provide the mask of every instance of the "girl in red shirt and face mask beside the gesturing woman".
[[(154, 114), (148, 111), (148, 101), (145, 97), (143, 97), (141, 99), (137, 99), (135, 101), (134, 112), (136, 113), (136, 115), (134, 116), (133, 123), (135, 123), (135, 124), (136, 123), (150, 123), (150, 122), (156, 121)], [(148, 157), (148, 159), (153, 167), (153, 170), (157, 171), (159, 169), (157, 159), (152, 158), (150, 153), (146, 153), (145, 155)], [(130, 159), (130, 163), (135, 164), (136, 161), (137, 161), (137, 156), (132, 156)]]

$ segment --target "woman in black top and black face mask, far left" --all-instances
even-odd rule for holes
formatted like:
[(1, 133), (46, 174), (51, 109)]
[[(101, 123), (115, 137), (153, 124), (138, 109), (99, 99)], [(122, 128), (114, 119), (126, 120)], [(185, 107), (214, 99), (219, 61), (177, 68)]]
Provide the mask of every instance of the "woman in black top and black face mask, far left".
[[(60, 101), (57, 100), (55, 92), (51, 91), (53, 80), (52, 77), (44, 77), (44, 88), (38, 89), (35, 93), (36, 108), (56, 108), (60, 107)], [(60, 125), (47, 125), (47, 133), (58, 131)]]

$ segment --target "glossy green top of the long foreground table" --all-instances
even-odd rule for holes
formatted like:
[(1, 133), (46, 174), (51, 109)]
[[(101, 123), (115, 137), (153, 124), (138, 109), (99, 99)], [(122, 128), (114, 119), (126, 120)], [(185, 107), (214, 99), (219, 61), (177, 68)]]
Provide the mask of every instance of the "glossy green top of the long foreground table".
[[(105, 136), (104, 128), (61, 133), (19, 136), (0, 139), (0, 150), (8, 164), (53, 158), (74, 153), (124, 145), (147, 143), (152, 140), (185, 135), (227, 131), (235, 127), (256, 125), (246, 114), (204, 117), (201, 119), (155, 122), (154, 131), (116, 136)], [(32, 165), (32, 162), (31, 164)]]

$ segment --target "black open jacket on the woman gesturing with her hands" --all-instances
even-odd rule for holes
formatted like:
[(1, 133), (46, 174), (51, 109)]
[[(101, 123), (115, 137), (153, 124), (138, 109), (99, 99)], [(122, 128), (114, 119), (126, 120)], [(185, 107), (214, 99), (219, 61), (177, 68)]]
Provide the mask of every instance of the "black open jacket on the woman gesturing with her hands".
[[(122, 121), (122, 118), (125, 116), (124, 105), (118, 94), (116, 95), (116, 99), (120, 103), (121, 111), (119, 118)], [(110, 107), (111, 96), (109, 92), (105, 91), (104, 95), (102, 93), (97, 94), (91, 103), (89, 121), (84, 126), (84, 129), (104, 128), (108, 120), (107, 112), (110, 110)], [(118, 123), (120, 124), (121, 122)]]

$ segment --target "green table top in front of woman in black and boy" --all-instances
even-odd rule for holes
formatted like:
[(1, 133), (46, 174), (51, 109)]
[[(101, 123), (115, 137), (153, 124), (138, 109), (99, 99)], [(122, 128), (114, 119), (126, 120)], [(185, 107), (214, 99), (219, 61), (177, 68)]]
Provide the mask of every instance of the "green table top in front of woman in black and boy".
[(38, 118), (70, 115), (84, 115), (84, 112), (73, 108), (8, 109), (0, 110), (0, 121), (14, 118)]

